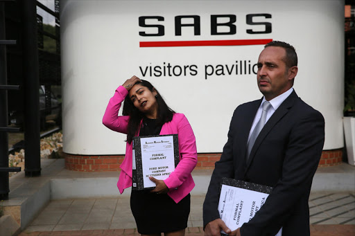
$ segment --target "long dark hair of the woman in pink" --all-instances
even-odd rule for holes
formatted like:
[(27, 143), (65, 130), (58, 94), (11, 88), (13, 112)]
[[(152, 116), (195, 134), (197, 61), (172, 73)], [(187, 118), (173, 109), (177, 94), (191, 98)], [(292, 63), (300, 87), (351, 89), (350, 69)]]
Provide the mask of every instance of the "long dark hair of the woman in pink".
[[(150, 84), (150, 82), (141, 80), (141, 82), (135, 84), (141, 84), (141, 86), (147, 87), (152, 93), (153, 91), (157, 92), (157, 96), (155, 97), (157, 99), (157, 125), (164, 125), (164, 123), (173, 120), (175, 111), (166, 105), (160, 93), (152, 84)], [(137, 134), (137, 131), (139, 131), (141, 119), (143, 119), (145, 115), (133, 105), (129, 96), (125, 96), (122, 114), (123, 116), (130, 116), (130, 120), (128, 121), (127, 142), (132, 143), (132, 138)]]

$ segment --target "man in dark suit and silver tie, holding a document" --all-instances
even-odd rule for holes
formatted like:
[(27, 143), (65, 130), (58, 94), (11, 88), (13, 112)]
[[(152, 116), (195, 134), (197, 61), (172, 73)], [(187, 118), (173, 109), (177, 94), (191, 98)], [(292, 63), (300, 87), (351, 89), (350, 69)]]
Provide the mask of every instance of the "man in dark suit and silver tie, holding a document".
[[(293, 89), (298, 71), (293, 46), (266, 44), (257, 66), (263, 98), (234, 111), (203, 205), (205, 235), (220, 235), (222, 229), (229, 235), (275, 236), (280, 228), (283, 236), (310, 235), (308, 200), (324, 144), (324, 118)], [(219, 217), (222, 177), (272, 187), (262, 208), (233, 232)]]

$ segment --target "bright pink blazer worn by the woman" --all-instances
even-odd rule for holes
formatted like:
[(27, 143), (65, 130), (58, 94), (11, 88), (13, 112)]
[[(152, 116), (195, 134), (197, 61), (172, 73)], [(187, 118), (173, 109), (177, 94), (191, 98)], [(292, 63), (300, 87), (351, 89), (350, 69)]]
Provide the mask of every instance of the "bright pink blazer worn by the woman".
[[(114, 131), (127, 134), (129, 116), (118, 116), (121, 103), (127, 96), (128, 91), (120, 86), (116, 89), (114, 96), (108, 102), (105, 114), (103, 115), (103, 125)], [(171, 122), (166, 122), (162, 126), (160, 134), (178, 134), (180, 162), (170, 176), (164, 180), (169, 188), (168, 195), (176, 203), (187, 196), (195, 187), (191, 172), (197, 163), (196, 139), (189, 121), (184, 114), (176, 113)], [(125, 188), (132, 186), (132, 143), (125, 146), (125, 158), (120, 165), (121, 174), (117, 187), (122, 194)]]

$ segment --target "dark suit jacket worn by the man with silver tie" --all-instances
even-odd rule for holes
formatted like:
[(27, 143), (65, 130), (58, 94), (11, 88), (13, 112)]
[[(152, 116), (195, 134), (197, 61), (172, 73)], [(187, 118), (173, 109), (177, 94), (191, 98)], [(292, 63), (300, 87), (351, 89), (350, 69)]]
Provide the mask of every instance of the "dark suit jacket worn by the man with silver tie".
[(273, 187), (266, 203), (241, 227), (241, 236), (309, 235), (309, 193), (324, 144), (324, 118), (295, 91), (270, 117), (245, 158), (261, 100), (234, 111), (228, 140), (216, 162), (203, 205), (203, 224), (219, 218), (220, 179), (225, 176)]

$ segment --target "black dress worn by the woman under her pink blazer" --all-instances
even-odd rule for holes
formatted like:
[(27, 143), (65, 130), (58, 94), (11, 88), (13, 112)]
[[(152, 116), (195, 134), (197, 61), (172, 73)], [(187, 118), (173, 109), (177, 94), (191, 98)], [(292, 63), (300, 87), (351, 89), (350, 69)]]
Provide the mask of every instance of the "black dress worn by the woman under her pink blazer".
[[(155, 120), (144, 118), (139, 136), (159, 135), (161, 129), (162, 126), (157, 126)], [(175, 203), (168, 194), (155, 194), (150, 191), (132, 190), (130, 195), (130, 208), (138, 233), (151, 235), (187, 228), (190, 194)]]

